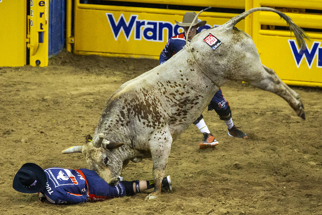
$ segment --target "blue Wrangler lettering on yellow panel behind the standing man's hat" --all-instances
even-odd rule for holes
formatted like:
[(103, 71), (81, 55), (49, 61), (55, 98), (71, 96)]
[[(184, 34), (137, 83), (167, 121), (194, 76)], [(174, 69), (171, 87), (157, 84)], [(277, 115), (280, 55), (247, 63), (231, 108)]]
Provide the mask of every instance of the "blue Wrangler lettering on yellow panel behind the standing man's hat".
[[(115, 40), (118, 40), (119, 35), (123, 32), (126, 40), (129, 41), (130, 36), (134, 32), (134, 40), (144, 39), (146, 41), (164, 42), (164, 39), (167, 41), (172, 36), (183, 31), (181, 26), (170, 22), (140, 20), (137, 14), (132, 14), (128, 21), (123, 14), (118, 17), (118, 21), (116, 21), (112, 13), (106, 13), (106, 17)], [(205, 24), (199, 27), (198, 30), (203, 31), (211, 27), (211, 25)], [(179, 29), (181, 29), (181, 32), (179, 32)], [(167, 32), (166, 38), (164, 38), (165, 31)]]

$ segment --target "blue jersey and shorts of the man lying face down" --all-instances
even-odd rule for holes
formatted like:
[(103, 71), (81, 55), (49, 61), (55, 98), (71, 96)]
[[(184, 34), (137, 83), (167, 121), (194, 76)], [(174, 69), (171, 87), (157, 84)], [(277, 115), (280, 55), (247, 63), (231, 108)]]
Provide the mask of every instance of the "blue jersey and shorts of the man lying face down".
[(89, 199), (99, 201), (126, 195), (121, 182), (111, 186), (92, 170), (53, 167), (44, 171), (47, 183), (42, 193), (54, 204), (75, 204)]

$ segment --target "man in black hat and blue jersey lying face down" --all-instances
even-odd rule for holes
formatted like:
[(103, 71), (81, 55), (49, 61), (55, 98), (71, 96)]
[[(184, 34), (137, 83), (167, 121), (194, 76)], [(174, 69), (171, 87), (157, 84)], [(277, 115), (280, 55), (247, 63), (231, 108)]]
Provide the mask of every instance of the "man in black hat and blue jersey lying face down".
[[(154, 188), (154, 181), (120, 181), (111, 186), (95, 171), (47, 168), (25, 163), (14, 176), (13, 188), (23, 193), (37, 193), (39, 199), (54, 204), (76, 204), (102, 201), (115, 197), (133, 196)], [(172, 191), (170, 176), (162, 180), (162, 188)]]

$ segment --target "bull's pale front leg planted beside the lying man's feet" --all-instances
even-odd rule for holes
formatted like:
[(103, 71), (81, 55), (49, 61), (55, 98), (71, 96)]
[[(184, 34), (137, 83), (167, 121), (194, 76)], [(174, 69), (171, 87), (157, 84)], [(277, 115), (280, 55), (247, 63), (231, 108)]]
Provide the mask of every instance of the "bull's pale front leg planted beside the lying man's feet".
[(155, 199), (161, 194), (161, 182), (165, 175), (172, 143), (172, 137), (168, 130), (156, 132), (154, 137), (153, 140), (151, 138), (149, 144), (153, 161), (152, 175), (155, 187), (153, 192), (147, 195), (146, 200)]

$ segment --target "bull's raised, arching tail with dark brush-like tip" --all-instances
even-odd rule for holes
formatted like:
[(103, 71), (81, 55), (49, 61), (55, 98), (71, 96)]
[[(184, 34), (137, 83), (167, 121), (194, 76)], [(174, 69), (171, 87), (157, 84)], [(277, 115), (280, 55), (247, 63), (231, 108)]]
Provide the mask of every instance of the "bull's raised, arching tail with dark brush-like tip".
[(227, 29), (232, 29), (233, 26), (235, 26), (235, 24), (237, 24), (239, 21), (241, 21), (242, 19), (244, 19), (246, 16), (250, 15), (251, 13), (255, 12), (255, 11), (271, 11), (274, 13), (277, 13), (280, 17), (282, 17), (287, 24), (289, 25), (289, 30), (291, 32), (293, 32), (293, 34), (296, 37), (296, 40), (298, 42), (298, 45), (301, 48), (305, 47), (305, 41), (304, 41), (304, 37), (306, 39), (309, 39), (308, 36), (305, 34), (304, 30), (300, 27), (298, 27), (295, 23), (293, 23), (292, 19), (283, 14), (282, 12), (275, 10), (273, 8), (270, 7), (255, 7), (255, 8), (251, 8), (243, 13), (241, 13), (240, 15), (237, 15), (233, 18), (231, 18), (228, 22), (226, 22), (225, 24), (223, 24), (223, 27), (226, 27)]

